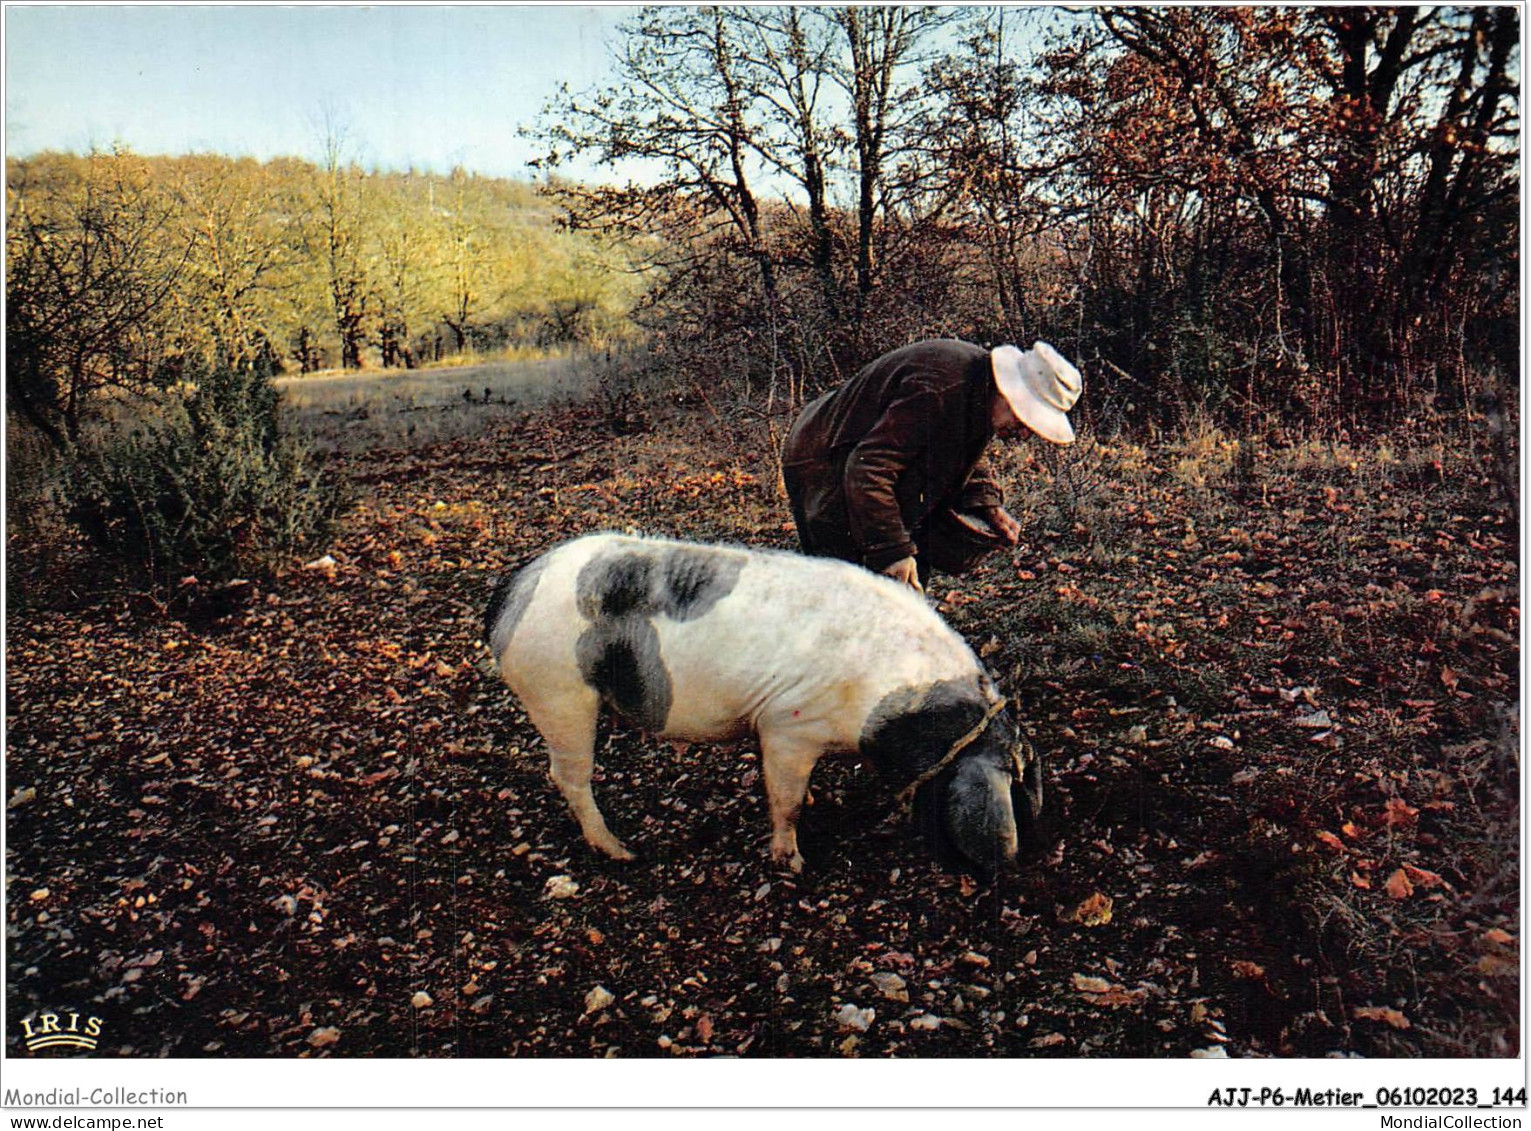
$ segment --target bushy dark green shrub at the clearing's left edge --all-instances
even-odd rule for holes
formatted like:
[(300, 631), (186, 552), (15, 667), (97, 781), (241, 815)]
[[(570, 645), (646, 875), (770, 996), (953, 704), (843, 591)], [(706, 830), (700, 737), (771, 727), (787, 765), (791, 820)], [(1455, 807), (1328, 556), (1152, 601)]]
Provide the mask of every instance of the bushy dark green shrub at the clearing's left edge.
[(158, 419), (75, 450), (69, 520), (149, 589), (269, 574), (328, 536), (337, 490), (279, 419), (269, 375), (219, 366)]

